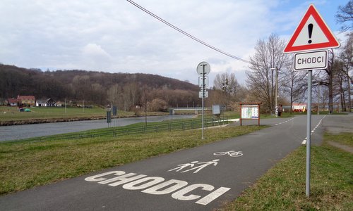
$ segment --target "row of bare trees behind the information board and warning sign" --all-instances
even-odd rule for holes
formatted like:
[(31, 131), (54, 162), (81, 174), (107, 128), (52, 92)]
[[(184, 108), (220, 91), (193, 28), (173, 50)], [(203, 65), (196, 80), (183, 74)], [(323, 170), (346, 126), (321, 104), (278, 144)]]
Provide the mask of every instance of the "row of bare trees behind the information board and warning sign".
[[(328, 68), (313, 72), (312, 103), (316, 103), (315, 109), (328, 108), (330, 113), (334, 109), (350, 112), (353, 85), (353, 1), (349, 0), (345, 6), (340, 6), (335, 18), (337, 23), (342, 24), (342, 32), (347, 32), (347, 39), (341, 41), (340, 49), (328, 50)], [(286, 43), (277, 34), (258, 40), (255, 53), (250, 57), (249, 69), (246, 70), (246, 85), (239, 84), (234, 73), (217, 75), (210, 100), (234, 108), (237, 108), (236, 102), (261, 102), (264, 113), (274, 113), (278, 106), (275, 105), (277, 84), (278, 104), (292, 108), (294, 102), (306, 103), (307, 72), (294, 71), (293, 55), (282, 53)]]

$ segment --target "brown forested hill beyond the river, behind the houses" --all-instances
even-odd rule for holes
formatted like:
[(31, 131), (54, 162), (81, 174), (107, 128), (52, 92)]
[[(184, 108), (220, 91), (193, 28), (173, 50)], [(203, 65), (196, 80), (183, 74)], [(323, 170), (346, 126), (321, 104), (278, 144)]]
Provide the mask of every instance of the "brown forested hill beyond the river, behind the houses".
[(179, 100), (183, 104), (198, 100), (198, 86), (160, 75), (85, 70), (42, 72), (0, 64), (0, 98), (3, 99), (32, 95), (37, 99), (50, 97), (63, 101), (66, 98), (100, 105), (124, 101), (126, 108), (140, 103), (141, 97), (147, 96), (146, 91), (149, 101), (162, 98), (167, 106), (174, 106), (170, 96), (173, 94), (181, 95)]

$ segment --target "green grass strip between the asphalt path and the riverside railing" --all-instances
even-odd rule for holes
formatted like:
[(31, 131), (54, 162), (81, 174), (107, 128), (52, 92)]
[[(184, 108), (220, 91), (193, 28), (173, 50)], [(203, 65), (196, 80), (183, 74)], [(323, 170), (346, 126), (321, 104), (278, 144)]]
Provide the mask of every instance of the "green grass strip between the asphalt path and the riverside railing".
[(21, 141), (0, 144), (0, 194), (78, 177), (155, 155), (192, 148), (253, 132), (262, 127), (218, 127), (121, 137)]

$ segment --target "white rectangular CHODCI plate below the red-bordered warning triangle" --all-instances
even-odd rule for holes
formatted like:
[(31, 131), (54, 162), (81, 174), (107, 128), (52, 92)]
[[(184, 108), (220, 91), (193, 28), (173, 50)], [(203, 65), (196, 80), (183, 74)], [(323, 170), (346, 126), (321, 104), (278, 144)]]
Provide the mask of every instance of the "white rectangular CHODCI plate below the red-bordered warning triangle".
[(314, 51), (294, 54), (294, 71), (322, 70), (328, 68), (328, 51)]

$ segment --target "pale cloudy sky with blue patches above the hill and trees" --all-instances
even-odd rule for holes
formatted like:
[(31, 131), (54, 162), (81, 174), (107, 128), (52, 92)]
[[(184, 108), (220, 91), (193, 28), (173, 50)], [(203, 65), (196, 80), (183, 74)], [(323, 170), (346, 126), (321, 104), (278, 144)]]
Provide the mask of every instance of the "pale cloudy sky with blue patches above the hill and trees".
[[(172, 25), (233, 56), (249, 60), (260, 39), (292, 37), (309, 4), (330, 30), (348, 0), (134, 0)], [(0, 63), (45, 70), (147, 73), (198, 84), (197, 65), (234, 73), (245, 84), (248, 64), (186, 37), (126, 0), (1, 0)]]

